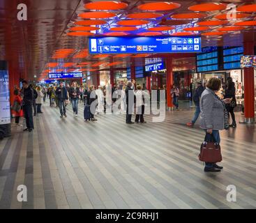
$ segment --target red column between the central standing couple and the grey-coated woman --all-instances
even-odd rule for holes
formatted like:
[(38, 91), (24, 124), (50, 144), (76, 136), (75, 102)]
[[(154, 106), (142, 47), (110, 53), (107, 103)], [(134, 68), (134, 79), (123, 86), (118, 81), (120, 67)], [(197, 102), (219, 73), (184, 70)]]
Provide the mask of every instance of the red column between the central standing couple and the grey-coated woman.
[(173, 85), (173, 74), (172, 74), (172, 57), (166, 59), (166, 94), (167, 94), (167, 107), (174, 107), (172, 104), (171, 89)]

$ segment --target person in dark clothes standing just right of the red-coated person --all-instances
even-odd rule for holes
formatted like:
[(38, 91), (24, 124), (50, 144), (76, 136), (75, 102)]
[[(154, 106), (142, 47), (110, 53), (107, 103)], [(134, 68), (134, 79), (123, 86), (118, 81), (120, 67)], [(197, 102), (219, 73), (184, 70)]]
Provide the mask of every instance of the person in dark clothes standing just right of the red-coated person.
[(24, 117), (26, 118), (27, 128), (24, 131), (31, 132), (33, 130), (33, 89), (29, 87), (27, 81), (22, 82), (23, 86), (23, 99), (22, 99), (22, 108), (24, 112)]

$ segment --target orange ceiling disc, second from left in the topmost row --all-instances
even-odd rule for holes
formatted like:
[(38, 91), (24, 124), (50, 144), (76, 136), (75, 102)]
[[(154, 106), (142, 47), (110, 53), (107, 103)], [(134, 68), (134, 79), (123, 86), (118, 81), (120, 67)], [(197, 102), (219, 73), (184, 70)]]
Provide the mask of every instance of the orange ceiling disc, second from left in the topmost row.
[(145, 3), (140, 6), (137, 6), (140, 10), (150, 10), (150, 11), (166, 11), (173, 10), (175, 8), (181, 7), (181, 4), (174, 2), (153, 2), (153, 3)]

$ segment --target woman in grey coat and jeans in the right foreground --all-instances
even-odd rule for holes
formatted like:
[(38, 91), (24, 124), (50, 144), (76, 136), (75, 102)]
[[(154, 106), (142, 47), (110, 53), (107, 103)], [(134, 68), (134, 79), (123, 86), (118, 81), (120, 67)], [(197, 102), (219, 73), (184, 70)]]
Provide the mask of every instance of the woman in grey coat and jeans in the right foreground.
[[(228, 116), (225, 104), (231, 102), (231, 98), (220, 100), (216, 93), (220, 90), (221, 81), (216, 77), (211, 77), (206, 84), (206, 89), (200, 99), (200, 125), (207, 133), (212, 134), (218, 144), (220, 144), (219, 130), (228, 127)], [(218, 172), (223, 167), (216, 163), (206, 162), (204, 171)]]

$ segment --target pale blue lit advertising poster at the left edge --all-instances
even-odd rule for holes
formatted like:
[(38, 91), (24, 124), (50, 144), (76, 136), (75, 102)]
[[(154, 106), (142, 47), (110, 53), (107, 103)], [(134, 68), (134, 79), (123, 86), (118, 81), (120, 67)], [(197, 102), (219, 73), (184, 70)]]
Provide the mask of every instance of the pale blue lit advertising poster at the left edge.
[(0, 125), (10, 123), (10, 92), (7, 70), (0, 70)]

